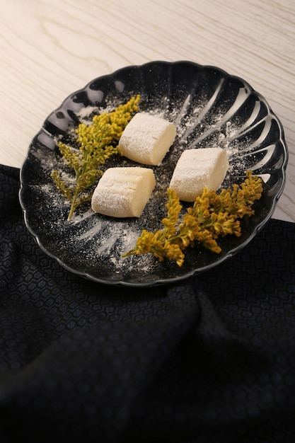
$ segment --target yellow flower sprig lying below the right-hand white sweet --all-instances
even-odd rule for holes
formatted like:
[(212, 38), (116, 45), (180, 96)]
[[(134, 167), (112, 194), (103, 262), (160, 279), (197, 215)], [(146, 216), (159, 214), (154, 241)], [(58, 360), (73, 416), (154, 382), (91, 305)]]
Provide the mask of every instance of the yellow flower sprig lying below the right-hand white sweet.
[(217, 194), (205, 188), (181, 219), (182, 206), (178, 195), (168, 189), (168, 216), (162, 220), (163, 229), (155, 232), (144, 229), (135, 247), (123, 257), (151, 253), (160, 261), (167, 258), (182, 266), (183, 251), (196, 242), (220, 253), (216, 238), (228, 234), (241, 236), (240, 219), (254, 213), (253, 203), (260, 199), (262, 190), (262, 180), (247, 171), (243, 183), (234, 184), (232, 189), (223, 189)]

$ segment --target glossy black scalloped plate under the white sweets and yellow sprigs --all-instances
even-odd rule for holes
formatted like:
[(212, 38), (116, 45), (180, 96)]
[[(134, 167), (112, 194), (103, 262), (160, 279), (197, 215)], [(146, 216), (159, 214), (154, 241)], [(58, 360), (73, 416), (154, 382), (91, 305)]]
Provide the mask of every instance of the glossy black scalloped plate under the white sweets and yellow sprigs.
[[(66, 171), (57, 140), (71, 142), (73, 128), (93, 113), (112, 110), (134, 95), (141, 110), (177, 125), (177, 137), (161, 167), (155, 167), (156, 189), (139, 219), (111, 219), (89, 207), (66, 222), (69, 205), (54, 187), (53, 169)], [(242, 221), (242, 236), (219, 240), (220, 254), (202, 245), (188, 248), (183, 267), (159, 263), (152, 255), (121, 255), (134, 246), (141, 229), (161, 228), (166, 215), (166, 188), (183, 149), (221, 146), (230, 168), (224, 187), (241, 183), (250, 169), (264, 182), (255, 215)], [(115, 159), (108, 166), (134, 166)], [(287, 146), (279, 119), (251, 86), (216, 67), (192, 62), (151, 62), (126, 67), (91, 81), (52, 112), (33, 139), (21, 169), (20, 200), (25, 224), (45, 253), (69, 271), (96, 282), (149, 286), (181, 280), (212, 270), (241, 251), (267, 222), (285, 182)]]

